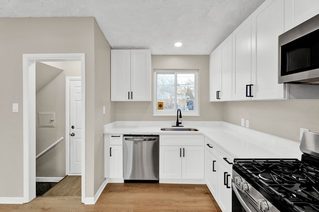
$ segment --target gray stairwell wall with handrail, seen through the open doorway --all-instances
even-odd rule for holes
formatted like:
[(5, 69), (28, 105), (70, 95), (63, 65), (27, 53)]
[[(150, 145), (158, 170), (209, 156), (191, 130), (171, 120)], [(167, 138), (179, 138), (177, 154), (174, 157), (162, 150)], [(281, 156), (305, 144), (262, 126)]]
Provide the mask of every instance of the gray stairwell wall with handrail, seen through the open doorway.
[[(36, 118), (36, 154), (51, 145), (60, 137), (65, 135), (65, 77), (81, 76), (80, 62), (51, 62), (36, 63), (38, 71), (52, 71), (52, 69), (63, 70), (52, 79), (41, 90), (36, 93), (36, 113), (55, 112), (55, 127), (38, 127)], [(37, 177), (64, 177), (65, 176), (65, 139), (60, 141), (56, 148), (51, 148), (36, 159)]]

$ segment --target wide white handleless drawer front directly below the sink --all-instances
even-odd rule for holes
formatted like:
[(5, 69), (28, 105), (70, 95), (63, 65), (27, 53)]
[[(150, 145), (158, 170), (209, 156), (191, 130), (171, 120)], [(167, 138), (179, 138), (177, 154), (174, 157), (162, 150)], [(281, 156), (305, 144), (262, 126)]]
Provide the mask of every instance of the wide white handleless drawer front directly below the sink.
[(176, 146), (176, 145), (204, 145), (204, 136), (202, 135), (161, 135), (160, 145)]

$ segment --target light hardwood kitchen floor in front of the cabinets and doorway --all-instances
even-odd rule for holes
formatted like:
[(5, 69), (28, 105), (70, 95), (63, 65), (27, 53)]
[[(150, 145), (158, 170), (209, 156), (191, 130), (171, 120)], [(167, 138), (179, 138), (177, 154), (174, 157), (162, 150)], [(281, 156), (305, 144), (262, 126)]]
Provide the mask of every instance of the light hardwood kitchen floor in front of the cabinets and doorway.
[(206, 185), (110, 183), (95, 205), (81, 197), (37, 197), (23, 205), (0, 205), (5, 212), (221, 212)]

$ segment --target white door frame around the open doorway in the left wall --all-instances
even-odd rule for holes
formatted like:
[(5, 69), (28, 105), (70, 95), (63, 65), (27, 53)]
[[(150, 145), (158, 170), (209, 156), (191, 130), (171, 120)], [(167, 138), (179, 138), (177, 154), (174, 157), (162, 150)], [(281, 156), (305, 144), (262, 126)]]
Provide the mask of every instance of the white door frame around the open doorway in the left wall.
[(80, 61), (82, 90), (82, 183), (81, 199), (85, 203), (85, 54), (23, 54), (23, 202), (35, 194), (35, 62)]

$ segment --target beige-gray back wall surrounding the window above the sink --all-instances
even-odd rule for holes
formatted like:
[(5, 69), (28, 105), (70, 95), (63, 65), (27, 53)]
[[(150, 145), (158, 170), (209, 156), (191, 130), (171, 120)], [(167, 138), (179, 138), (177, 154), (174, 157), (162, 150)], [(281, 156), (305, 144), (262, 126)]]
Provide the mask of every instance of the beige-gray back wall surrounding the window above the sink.
[(200, 116), (183, 116), (183, 121), (222, 120), (223, 103), (209, 102), (208, 55), (152, 55), (152, 102), (116, 102), (117, 121), (174, 121), (172, 116), (153, 116), (154, 69), (196, 69), (199, 82)]

